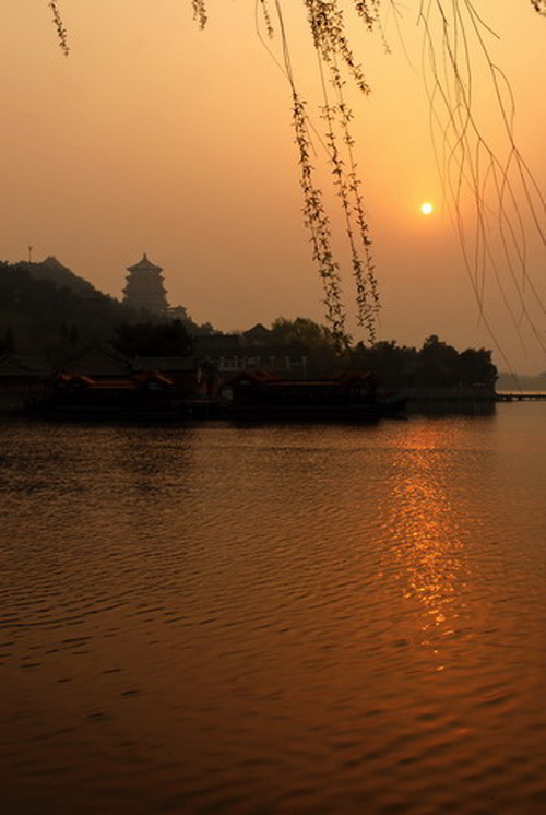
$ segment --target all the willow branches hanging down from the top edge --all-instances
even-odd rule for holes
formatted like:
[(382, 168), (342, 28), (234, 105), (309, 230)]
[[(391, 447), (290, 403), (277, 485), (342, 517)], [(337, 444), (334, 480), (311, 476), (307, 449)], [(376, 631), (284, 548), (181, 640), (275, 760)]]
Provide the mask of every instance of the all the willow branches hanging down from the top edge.
[[(523, 0), (522, 0), (523, 1)], [(526, 0), (532, 9), (546, 15), (546, 0)], [(373, 341), (379, 308), (378, 283), (371, 257), (371, 239), (364, 206), (363, 180), (355, 158), (352, 134), (353, 114), (346, 104), (346, 78), (364, 94), (369, 86), (349, 43), (345, 12), (352, 12), (385, 43), (382, 15), (393, 9), (396, 0), (299, 0), (307, 29), (319, 59), (323, 104), (320, 118), (322, 132), (317, 132), (308, 114), (308, 105), (298, 88), (285, 29), (284, 9), (296, 0), (254, 0), (257, 20), (261, 17), (268, 38), (281, 44), (283, 71), (290, 87), (295, 141), (298, 150), (300, 186), (304, 194), (304, 217), (310, 232), (312, 257), (318, 264), (324, 290), (327, 319), (340, 345), (346, 340), (345, 310), (342, 305), (342, 275), (332, 250), (330, 217), (322, 192), (316, 181), (312, 156), (316, 143), (325, 151), (333, 177), (334, 190), (341, 202), (345, 233), (356, 285), (357, 318)], [(61, 21), (58, 0), (48, 1), (54, 15), (60, 47), (68, 54), (67, 32)], [(203, 28), (207, 21), (206, 0), (190, 0), (193, 17)], [(526, 221), (531, 217), (535, 235), (546, 245), (545, 201), (525, 164), (513, 135), (513, 102), (508, 83), (489, 57), (487, 36), (490, 28), (480, 19), (473, 0), (418, 0), (415, 2), (418, 22), (424, 33), (424, 66), (428, 76), (431, 129), (436, 137), (437, 157), (443, 188), (461, 238), (463, 258), (478, 303), (487, 323), (484, 302), (492, 274), (510, 319), (520, 330), (531, 328), (538, 341), (546, 340), (531, 316), (527, 293), (534, 307), (546, 314), (538, 291), (527, 269)], [(529, 8), (529, 7), (527, 7)], [(494, 13), (494, 12), (491, 12)], [(301, 32), (297, 32), (298, 36)], [(507, 144), (501, 155), (487, 137), (488, 122), (479, 121), (476, 104), (476, 64), (485, 64), (489, 75), (489, 95), (497, 102), (500, 128)], [(479, 66), (478, 66), (479, 68)], [(313, 137), (313, 138), (312, 138)], [(470, 190), (474, 216), (468, 224), (463, 217), (463, 204)], [(496, 231), (498, 240), (492, 240)], [(500, 256), (494, 244), (501, 247)], [(508, 269), (507, 291), (501, 267)], [(490, 330), (490, 329), (489, 329)], [(492, 336), (492, 332), (491, 332)], [(495, 338), (494, 338), (495, 339)], [(499, 345), (498, 343), (496, 343)]]

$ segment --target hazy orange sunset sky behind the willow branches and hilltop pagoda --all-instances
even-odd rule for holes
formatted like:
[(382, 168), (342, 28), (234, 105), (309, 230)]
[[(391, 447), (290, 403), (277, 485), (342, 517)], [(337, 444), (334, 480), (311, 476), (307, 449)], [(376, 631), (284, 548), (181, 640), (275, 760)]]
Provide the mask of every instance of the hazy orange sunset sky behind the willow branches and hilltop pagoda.
[[(34, 260), (55, 255), (120, 296), (126, 267), (145, 251), (165, 269), (171, 305), (185, 305), (198, 322), (236, 330), (280, 315), (322, 321), (289, 87), (257, 35), (254, 5), (209, 0), (201, 32), (190, 0), (60, 0), (71, 49), (64, 58), (45, 0), (3, 2), (0, 259), (24, 259), (32, 245)], [(284, 2), (296, 76), (311, 104), (317, 66), (299, 5)], [(475, 5), (499, 35), (488, 43), (515, 95), (517, 139), (546, 191), (546, 21), (525, 0)], [(390, 55), (379, 37), (351, 25), (373, 91), (348, 95), (383, 305), (379, 336), (420, 345), (438, 333), (461, 350), (492, 347), (435, 162), (419, 2), (402, 7), (402, 40), (392, 15), (385, 20)], [(278, 56), (278, 42), (271, 48)], [(495, 139), (498, 114), (485, 73), (476, 73), (473, 94), (480, 127)], [(472, 224), (465, 194), (461, 211)], [(428, 217), (419, 212), (424, 201), (436, 206)], [(544, 246), (523, 218), (531, 227), (526, 291), (534, 285), (546, 296)], [(489, 239), (498, 248), (495, 229)], [(353, 314), (351, 275), (343, 274)], [(497, 274), (518, 320), (521, 286), (502, 264)], [(546, 353), (525, 319), (523, 343), (511, 327), (494, 269), (483, 283), (486, 317), (512, 367), (545, 370)], [(542, 330), (544, 311), (530, 308)], [(349, 328), (360, 339), (354, 321)], [(495, 359), (506, 367), (499, 354)]]

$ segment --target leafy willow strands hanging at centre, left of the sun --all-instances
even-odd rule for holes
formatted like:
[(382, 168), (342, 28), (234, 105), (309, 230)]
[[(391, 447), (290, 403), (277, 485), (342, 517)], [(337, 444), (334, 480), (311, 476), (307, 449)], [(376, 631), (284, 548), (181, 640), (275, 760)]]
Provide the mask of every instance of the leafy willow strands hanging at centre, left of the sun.
[[(369, 87), (348, 46), (344, 33), (343, 13), (336, 0), (330, 0), (330, 2), (304, 0), (304, 5), (319, 59), (321, 76), (323, 104), (320, 111), (324, 129), (319, 139), (327, 152), (334, 190), (341, 201), (345, 221), (345, 234), (356, 286), (357, 321), (366, 329), (368, 339), (375, 342), (376, 319), (379, 310), (378, 285), (360, 188), (361, 181), (357, 174), (354, 155), (354, 139), (351, 134), (352, 113), (343, 93), (342, 67), (346, 69), (361, 92), (369, 93)], [(319, 265), (319, 275), (324, 288), (327, 321), (339, 346), (343, 347), (346, 344), (346, 332), (340, 265), (334, 260), (330, 218), (324, 209), (321, 190), (314, 181), (310, 128), (306, 107), (296, 85), (280, 0), (275, 0), (275, 11), (283, 43), (284, 71), (292, 87), (294, 102), (293, 121), (299, 150), (305, 223), (311, 233), (313, 259)], [(359, 3), (359, 14), (361, 15), (365, 11), (368, 12), (367, 24), (371, 25), (368, 4)], [(332, 102), (330, 101), (331, 92), (335, 97)]]

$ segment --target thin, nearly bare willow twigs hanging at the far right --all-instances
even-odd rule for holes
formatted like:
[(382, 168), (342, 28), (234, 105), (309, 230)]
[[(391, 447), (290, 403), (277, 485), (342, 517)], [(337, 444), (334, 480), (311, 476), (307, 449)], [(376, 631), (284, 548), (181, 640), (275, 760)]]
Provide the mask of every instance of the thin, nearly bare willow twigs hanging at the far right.
[[(546, 203), (515, 142), (509, 83), (489, 56), (487, 38), (495, 34), (470, 0), (451, 5), (439, 0), (423, 2), (419, 22), (438, 164), (480, 319), (502, 354), (485, 311), (492, 283), (522, 346), (522, 327), (526, 326), (546, 351), (546, 336), (533, 317), (534, 311), (546, 316), (546, 307), (527, 259), (527, 223), (535, 241), (546, 247)], [(488, 85), (484, 87), (485, 80)], [(480, 120), (479, 93), (496, 102), (498, 122), (492, 131), (490, 121)], [(474, 213), (463, 218), (468, 190)]]

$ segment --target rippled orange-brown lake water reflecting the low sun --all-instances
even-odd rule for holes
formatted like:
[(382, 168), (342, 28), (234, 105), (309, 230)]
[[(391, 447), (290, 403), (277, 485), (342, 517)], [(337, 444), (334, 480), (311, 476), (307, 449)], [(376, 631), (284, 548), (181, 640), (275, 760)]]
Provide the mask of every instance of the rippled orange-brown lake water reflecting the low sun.
[(0, 425), (0, 811), (546, 811), (546, 403)]

